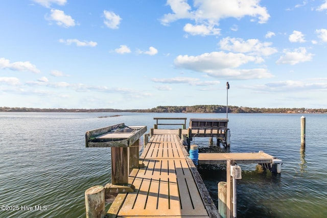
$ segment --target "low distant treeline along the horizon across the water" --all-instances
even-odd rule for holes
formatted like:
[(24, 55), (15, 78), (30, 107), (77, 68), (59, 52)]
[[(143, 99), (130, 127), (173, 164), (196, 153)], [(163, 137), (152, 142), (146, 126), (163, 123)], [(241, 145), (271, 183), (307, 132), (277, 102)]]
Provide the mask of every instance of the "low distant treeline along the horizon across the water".
[[(224, 105), (157, 106), (151, 109), (65, 109), (0, 107), (0, 112), (141, 112), (141, 113), (226, 113)], [(228, 113), (327, 113), (327, 109), (250, 108), (228, 106)]]

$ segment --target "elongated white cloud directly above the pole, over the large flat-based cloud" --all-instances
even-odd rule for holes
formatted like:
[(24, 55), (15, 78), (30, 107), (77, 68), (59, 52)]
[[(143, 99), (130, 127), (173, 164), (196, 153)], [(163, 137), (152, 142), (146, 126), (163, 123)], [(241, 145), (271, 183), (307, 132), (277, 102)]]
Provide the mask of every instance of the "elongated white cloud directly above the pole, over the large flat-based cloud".
[(240, 38), (226, 37), (220, 40), (220, 48), (231, 52), (249, 53), (252, 55), (269, 56), (277, 52), (270, 47), (271, 42), (260, 42), (258, 39), (248, 39), (244, 41)]

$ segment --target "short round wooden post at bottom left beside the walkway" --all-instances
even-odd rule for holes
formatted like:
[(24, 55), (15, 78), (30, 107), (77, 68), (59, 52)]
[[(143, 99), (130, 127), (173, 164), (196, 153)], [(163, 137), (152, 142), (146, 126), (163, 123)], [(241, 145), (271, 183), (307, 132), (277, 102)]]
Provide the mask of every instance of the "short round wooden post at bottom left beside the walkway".
[(86, 218), (103, 218), (106, 215), (104, 187), (96, 185), (85, 191)]

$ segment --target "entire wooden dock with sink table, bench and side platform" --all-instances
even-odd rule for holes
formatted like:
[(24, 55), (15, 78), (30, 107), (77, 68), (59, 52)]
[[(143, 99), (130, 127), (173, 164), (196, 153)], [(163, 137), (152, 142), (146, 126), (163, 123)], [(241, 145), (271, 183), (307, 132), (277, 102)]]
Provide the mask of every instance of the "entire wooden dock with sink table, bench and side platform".
[[(155, 118), (162, 119), (162, 118)], [(168, 119), (168, 118), (165, 118)], [(175, 118), (184, 119), (184, 118)], [(227, 120), (193, 120), (193, 126), (210, 127), (220, 131)], [(159, 125), (161, 123), (155, 124)], [(195, 125), (196, 124), (196, 125)], [(168, 125), (168, 124), (161, 124)], [(181, 125), (176, 124), (176, 125)], [(216, 128), (217, 126), (217, 128)], [(264, 152), (259, 153), (200, 153), (199, 164), (226, 164), (226, 192), (218, 209), (210, 197), (196, 166), (182, 144), (185, 135), (192, 137), (192, 129), (151, 129), (150, 140), (145, 143), (139, 157), (139, 137), (146, 126), (118, 124), (87, 131), (86, 147), (107, 147), (111, 149), (111, 184), (93, 186), (85, 191), (86, 217), (232, 217), (236, 214), (236, 179), (241, 179), (241, 168), (237, 163), (259, 163), (271, 172), (280, 173), (282, 160)], [(211, 131), (213, 131), (211, 130)], [(204, 130), (206, 131), (206, 130)], [(210, 135), (213, 132), (210, 132)], [(148, 138), (146, 134), (145, 138)], [(206, 136), (206, 132), (202, 137)], [(146, 139), (147, 141), (148, 139)], [(188, 142), (188, 147), (189, 147)], [(193, 147), (193, 146), (192, 146)], [(196, 146), (195, 146), (196, 147)], [(194, 151), (194, 150), (193, 150)], [(197, 150), (196, 150), (197, 151)], [(193, 152), (192, 152), (193, 153)], [(197, 156), (197, 155), (196, 155)], [(237, 170), (236, 170), (237, 169)], [(235, 187), (234, 187), (235, 186)], [(235, 197), (233, 197), (235, 194)], [(105, 200), (114, 198), (109, 210), (105, 211)]]

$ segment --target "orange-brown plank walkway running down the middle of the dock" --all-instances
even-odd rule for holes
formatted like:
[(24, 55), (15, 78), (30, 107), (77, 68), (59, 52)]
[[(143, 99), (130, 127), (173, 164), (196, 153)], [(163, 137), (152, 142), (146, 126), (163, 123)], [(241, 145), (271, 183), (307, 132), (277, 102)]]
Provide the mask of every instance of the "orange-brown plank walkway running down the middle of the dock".
[(116, 217), (220, 217), (218, 210), (177, 134), (151, 137), (129, 183), (134, 192), (120, 193), (108, 215)]

